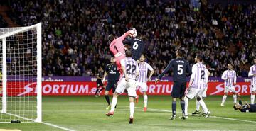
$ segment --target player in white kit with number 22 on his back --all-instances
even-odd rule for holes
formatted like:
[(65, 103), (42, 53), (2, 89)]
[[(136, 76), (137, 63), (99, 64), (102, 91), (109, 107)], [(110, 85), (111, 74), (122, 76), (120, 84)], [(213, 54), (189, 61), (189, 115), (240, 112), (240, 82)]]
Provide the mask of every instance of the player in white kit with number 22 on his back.
[(111, 110), (109, 113), (106, 113), (107, 116), (114, 115), (114, 107), (117, 104), (117, 97), (120, 93), (124, 92), (124, 89), (127, 90), (129, 96), (129, 108), (130, 108), (130, 118), (129, 123), (132, 124), (134, 120), (134, 98), (137, 96), (136, 94), (136, 77), (139, 75), (139, 67), (138, 63), (132, 59), (131, 50), (126, 51), (126, 58), (121, 60), (121, 67), (124, 74), (121, 76), (117, 83), (117, 89), (114, 92)]

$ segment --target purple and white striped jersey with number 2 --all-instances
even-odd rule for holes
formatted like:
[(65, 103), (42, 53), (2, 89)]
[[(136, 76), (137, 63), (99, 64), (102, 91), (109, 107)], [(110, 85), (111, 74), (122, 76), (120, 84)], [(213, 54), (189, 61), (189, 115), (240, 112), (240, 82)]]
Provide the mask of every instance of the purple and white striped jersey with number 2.
[(201, 62), (198, 62), (192, 67), (192, 75), (191, 80), (193, 83), (191, 84), (191, 88), (195, 89), (206, 89), (206, 84), (208, 82), (208, 69)]

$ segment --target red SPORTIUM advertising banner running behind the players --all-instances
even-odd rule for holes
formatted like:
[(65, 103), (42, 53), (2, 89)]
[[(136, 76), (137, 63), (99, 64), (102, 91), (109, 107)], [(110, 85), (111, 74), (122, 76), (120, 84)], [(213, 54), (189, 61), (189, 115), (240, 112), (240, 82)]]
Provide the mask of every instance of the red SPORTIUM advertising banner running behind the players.
[[(96, 82), (69, 82), (69, 81), (43, 81), (43, 96), (90, 96), (96, 91)], [(173, 89), (173, 82), (148, 82), (148, 95), (170, 95)], [(250, 95), (250, 83), (238, 82), (235, 91), (242, 95)], [(208, 82), (207, 95), (223, 95), (223, 82)], [(7, 84), (8, 96), (34, 96), (36, 83), (10, 82)], [(101, 92), (104, 94), (104, 90)], [(110, 91), (112, 94), (112, 91)], [(137, 94), (142, 94), (138, 88)], [(0, 94), (1, 96), (1, 94)]]

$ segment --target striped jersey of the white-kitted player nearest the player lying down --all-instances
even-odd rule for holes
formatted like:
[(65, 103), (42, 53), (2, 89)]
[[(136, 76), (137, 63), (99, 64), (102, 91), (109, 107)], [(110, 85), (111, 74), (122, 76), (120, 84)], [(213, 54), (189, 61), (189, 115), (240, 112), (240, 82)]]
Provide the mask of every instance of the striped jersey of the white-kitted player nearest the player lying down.
[(234, 70), (225, 70), (221, 79), (225, 80), (225, 87), (232, 87), (236, 83), (236, 72)]

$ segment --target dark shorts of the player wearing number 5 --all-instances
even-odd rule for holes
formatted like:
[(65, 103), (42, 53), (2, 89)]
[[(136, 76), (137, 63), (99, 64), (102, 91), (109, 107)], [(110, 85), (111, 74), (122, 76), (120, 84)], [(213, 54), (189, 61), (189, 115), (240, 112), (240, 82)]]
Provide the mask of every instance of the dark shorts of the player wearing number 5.
[(185, 96), (185, 91), (186, 91), (186, 82), (178, 82), (174, 81), (174, 87), (173, 90), (171, 91), (171, 97), (173, 98), (182, 98)]

